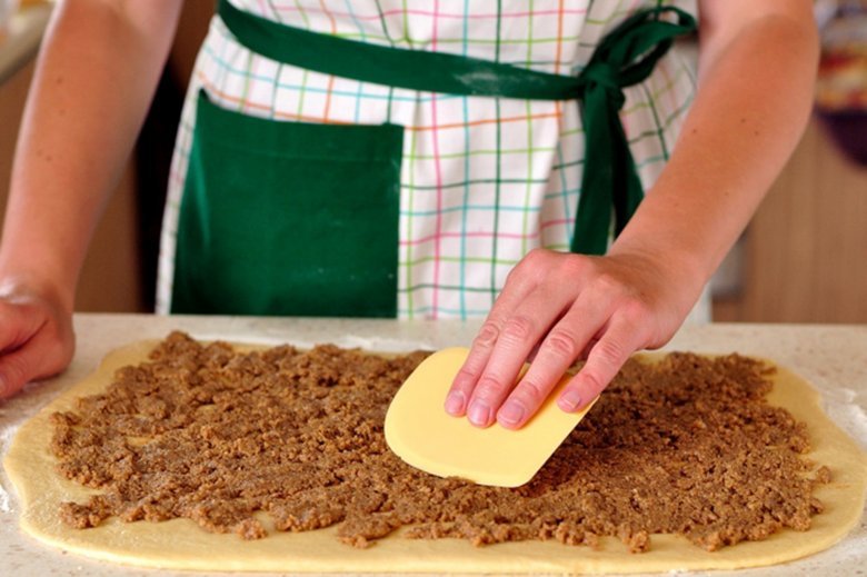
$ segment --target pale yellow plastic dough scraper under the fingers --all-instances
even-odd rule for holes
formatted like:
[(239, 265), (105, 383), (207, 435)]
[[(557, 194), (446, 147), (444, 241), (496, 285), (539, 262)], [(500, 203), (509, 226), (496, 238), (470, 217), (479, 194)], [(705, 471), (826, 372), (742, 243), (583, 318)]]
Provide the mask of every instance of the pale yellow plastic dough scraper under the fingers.
[[(469, 349), (455, 347), (425, 359), (401, 385), (386, 414), (386, 441), (409, 465), (440, 477), (519, 487), (529, 481), (596, 402), (565, 412), (556, 399), (566, 375), (520, 429), (495, 422), (486, 429), (444, 408), (451, 381)], [(526, 370), (526, 367), (525, 367)]]

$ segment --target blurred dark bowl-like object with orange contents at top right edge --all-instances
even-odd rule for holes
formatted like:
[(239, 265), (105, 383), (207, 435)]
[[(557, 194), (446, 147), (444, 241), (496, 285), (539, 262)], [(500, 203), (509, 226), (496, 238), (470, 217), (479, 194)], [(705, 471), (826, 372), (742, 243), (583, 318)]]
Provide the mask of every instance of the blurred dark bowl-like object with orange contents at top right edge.
[(867, 1), (817, 1), (816, 111), (831, 140), (867, 167)]

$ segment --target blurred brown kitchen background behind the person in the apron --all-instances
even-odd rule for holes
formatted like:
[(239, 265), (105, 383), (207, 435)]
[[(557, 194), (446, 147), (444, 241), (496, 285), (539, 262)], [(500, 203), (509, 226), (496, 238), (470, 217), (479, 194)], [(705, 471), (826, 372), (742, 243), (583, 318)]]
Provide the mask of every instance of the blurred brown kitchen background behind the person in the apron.
[[(150, 311), (168, 165), (213, 0), (187, 0), (169, 63), (81, 277), (80, 311)], [(867, 322), (867, 1), (818, 0), (814, 117), (714, 278), (714, 320)], [(0, 0), (0, 209), (51, 2)]]

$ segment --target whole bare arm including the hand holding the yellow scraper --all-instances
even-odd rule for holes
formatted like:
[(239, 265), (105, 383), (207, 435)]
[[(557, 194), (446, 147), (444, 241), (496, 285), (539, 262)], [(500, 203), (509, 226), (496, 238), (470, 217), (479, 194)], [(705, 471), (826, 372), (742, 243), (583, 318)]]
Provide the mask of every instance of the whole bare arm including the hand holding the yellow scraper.
[(705, 0), (699, 17), (698, 90), (668, 166), (608, 255), (539, 249), (516, 266), (449, 414), (519, 428), (579, 358), (557, 404), (584, 408), (631, 352), (674, 336), (783, 169), (813, 103), (813, 2)]

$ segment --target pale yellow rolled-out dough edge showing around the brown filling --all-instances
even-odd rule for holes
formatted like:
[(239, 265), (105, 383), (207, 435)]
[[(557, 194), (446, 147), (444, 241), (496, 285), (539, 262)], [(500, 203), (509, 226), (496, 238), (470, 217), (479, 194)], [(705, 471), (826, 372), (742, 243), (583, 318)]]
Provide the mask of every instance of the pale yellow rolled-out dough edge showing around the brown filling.
[(809, 458), (827, 465), (833, 483), (816, 496), (826, 510), (806, 533), (786, 530), (765, 541), (743, 543), (707, 553), (686, 539), (654, 535), (651, 550), (629, 554), (617, 539), (600, 550), (559, 543), (524, 541), (475, 548), (465, 540), (411, 540), (400, 534), (369, 549), (335, 538), (335, 528), (309, 533), (273, 531), (253, 541), (216, 535), (187, 519), (124, 524), (109, 519), (93, 529), (61, 524), (61, 501), (81, 501), (88, 489), (60, 478), (49, 444), (49, 416), (68, 410), (76, 397), (102, 391), (114, 369), (140, 362), (152, 342), (109, 355), (99, 370), (63, 392), (16, 436), (3, 461), (21, 501), (21, 528), (60, 549), (116, 563), (171, 569), (247, 571), (427, 571), (427, 573), (650, 573), (675, 569), (734, 569), (783, 563), (810, 555), (840, 540), (859, 520), (867, 484), (867, 456), (821, 411), (818, 394), (780, 369), (770, 401), (787, 408), (809, 427)]

